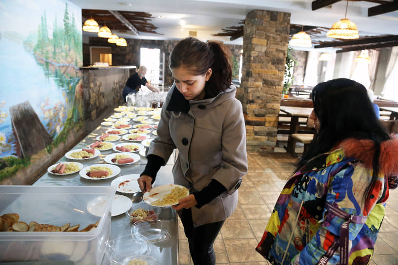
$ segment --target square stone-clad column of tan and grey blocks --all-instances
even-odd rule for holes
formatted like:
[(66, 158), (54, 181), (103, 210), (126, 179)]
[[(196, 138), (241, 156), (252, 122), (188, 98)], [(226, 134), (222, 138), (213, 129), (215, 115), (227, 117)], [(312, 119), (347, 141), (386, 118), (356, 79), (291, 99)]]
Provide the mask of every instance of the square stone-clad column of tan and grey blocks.
[(243, 105), (247, 151), (275, 150), (289, 30), (290, 13), (253, 10), (246, 16), (237, 97)]

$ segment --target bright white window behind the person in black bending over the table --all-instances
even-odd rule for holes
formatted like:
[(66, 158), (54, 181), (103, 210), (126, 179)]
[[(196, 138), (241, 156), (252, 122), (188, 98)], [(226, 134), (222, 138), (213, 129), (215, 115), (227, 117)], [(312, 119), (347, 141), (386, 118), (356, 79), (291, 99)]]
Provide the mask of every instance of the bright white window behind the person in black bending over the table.
[(148, 49), (141, 48), (140, 49), (140, 64), (146, 68), (145, 78), (152, 85), (159, 85), (159, 75), (160, 75), (160, 49)]

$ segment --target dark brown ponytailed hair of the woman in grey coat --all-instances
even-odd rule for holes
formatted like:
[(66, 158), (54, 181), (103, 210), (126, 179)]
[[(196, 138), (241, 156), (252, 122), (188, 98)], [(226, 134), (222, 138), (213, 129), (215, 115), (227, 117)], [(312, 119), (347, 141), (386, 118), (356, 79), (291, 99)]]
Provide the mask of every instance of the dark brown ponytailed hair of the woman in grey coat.
[(214, 97), (231, 85), (230, 51), (218, 42), (184, 38), (170, 54), (170, 69), (184, 67), (194, 75), (203, 75), (211, 68), (212, 75), (204, 87), (206, 96)]

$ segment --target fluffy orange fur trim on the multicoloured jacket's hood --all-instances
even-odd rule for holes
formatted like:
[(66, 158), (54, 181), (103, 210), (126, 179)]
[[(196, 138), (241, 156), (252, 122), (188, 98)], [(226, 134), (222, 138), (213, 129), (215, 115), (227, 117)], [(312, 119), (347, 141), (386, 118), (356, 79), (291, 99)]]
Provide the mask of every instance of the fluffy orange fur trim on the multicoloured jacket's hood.
[[(347, 157), (359, 159), (369, 169), (373, 168), (373, 154), (375, 153), (372, 140), (358, 140), (350, 138), (344, 140), (340, 147)], [(380, 172), (389, 176), (398, 173), (398, 138), (393, 138), (380, 143)]]

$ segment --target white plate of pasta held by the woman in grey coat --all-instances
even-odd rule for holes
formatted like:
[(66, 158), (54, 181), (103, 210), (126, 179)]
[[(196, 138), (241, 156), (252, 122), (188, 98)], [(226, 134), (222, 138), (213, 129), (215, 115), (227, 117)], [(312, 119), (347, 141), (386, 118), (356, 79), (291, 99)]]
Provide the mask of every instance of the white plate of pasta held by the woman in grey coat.
[(189, 195), (189, 190), (177, 184), (162, 185), (145, 192), (142, 200), (152, 206), (167, 207), (177, 205), (181, 198)]

